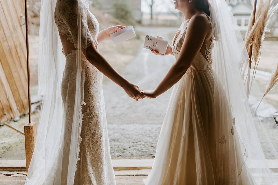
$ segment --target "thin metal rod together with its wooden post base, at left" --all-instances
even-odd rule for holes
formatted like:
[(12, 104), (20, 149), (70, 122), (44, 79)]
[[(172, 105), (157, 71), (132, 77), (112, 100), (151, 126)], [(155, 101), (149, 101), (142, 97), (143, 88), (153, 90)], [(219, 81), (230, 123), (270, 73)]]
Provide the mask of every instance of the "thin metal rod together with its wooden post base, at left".
[(27, 55), (27, 79), (28, 79), (28, 103), (29, 103), (29, 123), (24, 125), (25, 133), (25, 156), (26, 156), (26, 170), (28, 172), (32, 155), (34, 153), (36, 142), (36, 123), (32, 123), (31, 117), (31, 95), (30, 95), (30, 64), (29, 64), (29, 39), (28, 39), (28, 10), (27, 0), (25, 0), (25, 32), (26, 32), (26, 55)]

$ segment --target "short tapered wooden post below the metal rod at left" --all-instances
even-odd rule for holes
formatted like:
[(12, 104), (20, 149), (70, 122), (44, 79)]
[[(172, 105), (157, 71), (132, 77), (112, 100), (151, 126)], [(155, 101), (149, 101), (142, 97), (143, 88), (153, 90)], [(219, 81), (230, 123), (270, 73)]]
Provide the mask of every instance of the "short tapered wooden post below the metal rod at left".
[(26, 170), (28, 173), (28, 168), (35, 148), (35, 141), (37, 135), (36, 123), (30, 123), (24, 125), (24, 133), (25, 133)]

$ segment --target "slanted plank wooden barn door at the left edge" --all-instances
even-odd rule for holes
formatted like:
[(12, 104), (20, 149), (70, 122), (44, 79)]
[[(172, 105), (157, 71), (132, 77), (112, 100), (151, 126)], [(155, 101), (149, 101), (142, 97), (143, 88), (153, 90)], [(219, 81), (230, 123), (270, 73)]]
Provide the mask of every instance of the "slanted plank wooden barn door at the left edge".
[(0, 0), (0, 123), (27, 113), (24, 1)]

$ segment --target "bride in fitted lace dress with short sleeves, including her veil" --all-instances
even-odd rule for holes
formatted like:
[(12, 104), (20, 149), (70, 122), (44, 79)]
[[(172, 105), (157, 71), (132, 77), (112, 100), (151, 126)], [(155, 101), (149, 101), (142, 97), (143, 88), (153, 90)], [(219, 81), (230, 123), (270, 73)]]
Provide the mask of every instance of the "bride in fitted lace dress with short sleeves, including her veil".
[(144, 96), (101, 56), (98, 44), (124, 26), (99, 32), (86, 0), (41, 3), (40, 64), (47, 66), (41, 73), (48, 72), (39, 87), (43, 89), (43, 109), (25, 184), (115, 185), (103, 74), (131, 98)]

